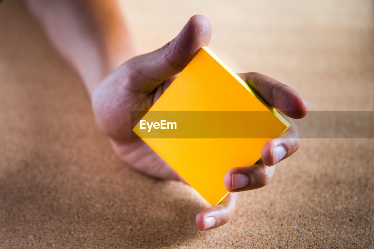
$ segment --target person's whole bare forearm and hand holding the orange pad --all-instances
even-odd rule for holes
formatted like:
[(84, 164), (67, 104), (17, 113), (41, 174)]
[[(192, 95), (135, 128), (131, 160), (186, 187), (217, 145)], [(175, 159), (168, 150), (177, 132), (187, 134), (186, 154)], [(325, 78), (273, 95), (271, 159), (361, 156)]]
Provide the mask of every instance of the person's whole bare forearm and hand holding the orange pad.
[[(129, 135), (132, 110), (147, 111), (202, 46), (209, 44), (208, 19), (190, 18), (175, 39), (153, 52), (132, 57), (129, 35), (115, 1), (26, 0), (52, 44), (77, 70), (92, 100), (99, 128), (117, 156), (129, 166), (160, 179), (183, 179), (141, 139)], [(115, 69), (115, 70), (114, 70)], [(114, 70), (114, 71), (113, 71)], [(238, 74), (291, 124), (267, 142), (255, 165), (234, 167), (224, 179), (231, 193), (220, 205), (200, 211), (199, 230), (225, 224), (232, 217), (237, 194), (265, 186), (275, 164), (291, 156), (300, 139), (293, 119), (306, 116), (307, 103), (291, 87), (259, 73)], [(228, 86), (229, 87), (229, 86)], [(250, 125), (250, 124), (249, 124)]]

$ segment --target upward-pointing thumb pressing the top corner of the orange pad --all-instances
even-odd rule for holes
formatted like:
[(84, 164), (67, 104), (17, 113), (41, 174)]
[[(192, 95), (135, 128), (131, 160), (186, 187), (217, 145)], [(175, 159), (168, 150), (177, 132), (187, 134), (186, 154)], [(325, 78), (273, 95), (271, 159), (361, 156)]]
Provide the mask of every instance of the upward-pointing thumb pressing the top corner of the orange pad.
[(208, 19), (202, 15), (192, 16), (178, 36), (165, 46), (122, 65), (132, 76), (129, 87), (152, 92), (163, 80), (180, 73), (199, 49), (209, 44), (211, 35)]

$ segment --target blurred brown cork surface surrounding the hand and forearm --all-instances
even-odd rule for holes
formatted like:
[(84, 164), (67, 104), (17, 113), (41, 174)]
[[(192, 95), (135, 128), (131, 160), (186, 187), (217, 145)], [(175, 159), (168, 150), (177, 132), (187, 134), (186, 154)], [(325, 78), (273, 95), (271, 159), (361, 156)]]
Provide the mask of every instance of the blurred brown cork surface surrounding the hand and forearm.
[[(310, 110), (373, 110), (373, 1), (119, 2), (137, 53), (201, 14), (234, 71), (288, 84)], [(1, 248), (373, 248), (373, 145), (302, 139), (228, 224), (200, 232), (201, 197), (120, 162), (77, 73), (22, 1), (0, 3)]]

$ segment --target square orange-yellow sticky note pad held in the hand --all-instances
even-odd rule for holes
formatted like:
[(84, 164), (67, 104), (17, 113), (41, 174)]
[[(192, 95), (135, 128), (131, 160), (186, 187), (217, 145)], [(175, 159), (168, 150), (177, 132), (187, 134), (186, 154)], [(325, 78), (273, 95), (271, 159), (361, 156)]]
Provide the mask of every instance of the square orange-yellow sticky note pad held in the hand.
[[(228, 194), (223, 182), (226, 172), (233, 167), (253, 165), (260, 159), (264, 144), (281, 135), (290, 125), (208, 47), (199, 50), (142, 120), (149, 119), (153, 111), (222, 111), (223, 115), (228, 111), (260, 111), (248, 114), (256, 114), (254, 118), (266, 125), (251, 127), (254, 120), (248, 115), (245, 119), (232, 120), (239, 123), (238, 129), (265, 134), (260, 138), (155, 138), (150, 136), (148, 128), (140, 129), (140, 122), (134, 127), (134, 132), (210, 205), (218, 204)], [(176, 123), (174, 132), (184, 129)], [(153, 129), (153, 132), (171, 131)]]

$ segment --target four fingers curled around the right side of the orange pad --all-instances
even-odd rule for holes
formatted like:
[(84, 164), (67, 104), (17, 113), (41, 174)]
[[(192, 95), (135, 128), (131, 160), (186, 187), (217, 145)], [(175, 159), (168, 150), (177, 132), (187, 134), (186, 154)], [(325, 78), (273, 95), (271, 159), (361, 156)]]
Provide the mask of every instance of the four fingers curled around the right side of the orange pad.
[(221, 205), (209, 207), (196, 216), (196, 225), (207, 230), (225, 224), (233, 215), (237, 196), (235, 192), (253, 190), (267, 185), (275, 171), (275, 164), (291, 156), (299, 148), (300, 138), (295, 122), (308, 112), (308, 104), (291, 87), (259, 73), (238, 74), (255, 92), (272, 107), (282, 110), (281, 115), (291, 126), (277, 138), (267, 142), (261, 151), (261, 159), (246, 167), (230, 169), (224, 184), (232, 192)]

